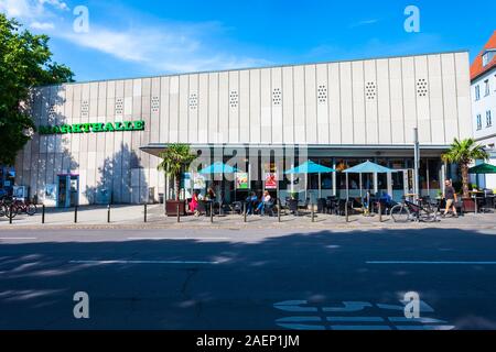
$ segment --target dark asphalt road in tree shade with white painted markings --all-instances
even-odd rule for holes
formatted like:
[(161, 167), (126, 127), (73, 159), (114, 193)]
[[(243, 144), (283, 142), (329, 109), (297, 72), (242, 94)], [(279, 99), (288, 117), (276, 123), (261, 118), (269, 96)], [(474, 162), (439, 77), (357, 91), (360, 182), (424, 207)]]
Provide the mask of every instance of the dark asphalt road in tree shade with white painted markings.
[(0, 329), (496, 329), (495, 295), (496, 230), (0, 231)]

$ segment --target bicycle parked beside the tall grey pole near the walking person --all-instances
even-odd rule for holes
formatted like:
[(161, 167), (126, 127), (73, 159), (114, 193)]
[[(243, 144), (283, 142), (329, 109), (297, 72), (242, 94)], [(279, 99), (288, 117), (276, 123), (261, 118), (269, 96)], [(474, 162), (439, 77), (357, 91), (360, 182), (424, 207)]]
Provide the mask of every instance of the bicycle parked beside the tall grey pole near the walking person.
[(440, 221), (438, 216), (438, 209), (435, 209), (430, 201), (421, 199), (419, 204), (407, 200), (403, 197), (403, 201), (391, 208), (391, 218), (395, 222), (407, 221), (424, 221), (435, 222)]

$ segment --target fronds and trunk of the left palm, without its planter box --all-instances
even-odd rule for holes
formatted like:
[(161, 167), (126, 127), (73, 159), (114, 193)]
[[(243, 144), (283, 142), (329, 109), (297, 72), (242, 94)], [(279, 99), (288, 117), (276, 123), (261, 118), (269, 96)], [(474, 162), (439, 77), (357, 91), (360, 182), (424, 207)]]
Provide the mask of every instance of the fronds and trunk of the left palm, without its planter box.
[(181, 175), (197, 156), (191, 152), (188, 144), (174, 143), (160, 153), (159, 157), (162, 158), (162, 162), (157, 168), (164, 172), (165, 176), (174, 178), (175, 200), (180, 200)]

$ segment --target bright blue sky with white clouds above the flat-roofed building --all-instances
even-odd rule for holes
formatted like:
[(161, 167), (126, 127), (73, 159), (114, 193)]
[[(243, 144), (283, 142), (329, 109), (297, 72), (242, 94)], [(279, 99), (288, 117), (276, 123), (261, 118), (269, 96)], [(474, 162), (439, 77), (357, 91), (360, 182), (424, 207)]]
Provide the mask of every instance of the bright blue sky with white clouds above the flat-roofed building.
[[(420, 33), (403, 11), (420, 10)], [(76, 33), (73, 11), (89, 11)], [(0, 0), (0, 11), (52, 37), (77, 80), (470, 50), (496, 30), (495, 1)]]

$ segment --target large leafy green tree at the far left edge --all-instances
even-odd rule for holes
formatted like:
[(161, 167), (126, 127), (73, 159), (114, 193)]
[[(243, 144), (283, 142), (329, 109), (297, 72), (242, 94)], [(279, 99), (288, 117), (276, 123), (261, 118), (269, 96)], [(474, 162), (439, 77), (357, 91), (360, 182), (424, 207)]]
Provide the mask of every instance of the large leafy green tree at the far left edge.
[(31, 89), (73, 80), (52, 61), (46, 35), (34, 35), (0, 13), (0, 164), (13, 165), (35, 127), (29, 113)]

